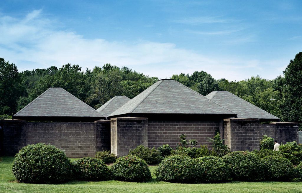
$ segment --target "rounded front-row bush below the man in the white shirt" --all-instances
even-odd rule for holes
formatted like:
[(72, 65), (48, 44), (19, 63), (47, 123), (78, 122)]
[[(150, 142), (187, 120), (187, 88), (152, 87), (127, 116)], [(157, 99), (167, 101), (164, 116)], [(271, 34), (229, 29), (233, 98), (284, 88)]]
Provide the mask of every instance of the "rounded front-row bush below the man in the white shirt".
[(267, 167), (267, 180), (291, 181), (294, 179), (294, 165), (284, 157), (267, 156), (263, 158)]

